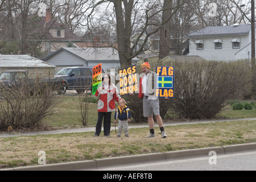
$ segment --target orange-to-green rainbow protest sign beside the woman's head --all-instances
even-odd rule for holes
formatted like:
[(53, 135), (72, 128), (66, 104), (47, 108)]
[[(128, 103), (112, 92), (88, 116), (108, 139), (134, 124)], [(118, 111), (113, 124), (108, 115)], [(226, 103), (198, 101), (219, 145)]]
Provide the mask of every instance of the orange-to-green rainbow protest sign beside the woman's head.
[(98, 64), (96, 67), (93, 67), (93, 81), (92, 81), (92, 94), (94, 95), (98, 89), (98, 86), (101, 86), (102, 81), (102, 64)]

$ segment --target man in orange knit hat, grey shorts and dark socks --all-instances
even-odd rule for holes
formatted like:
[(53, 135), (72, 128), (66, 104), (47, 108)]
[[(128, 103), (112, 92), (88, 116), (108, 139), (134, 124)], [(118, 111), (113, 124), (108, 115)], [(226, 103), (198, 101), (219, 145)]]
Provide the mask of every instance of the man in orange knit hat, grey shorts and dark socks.
[(155, 95), (155, 74), (150, 71), (150, 64), (148, 62), (141, 65), (142, 72), (145, 74), (139, 82), (139, 98), (143, 98), (143, 115), (148, 119), (148, 125), (150, 127), (150, 134), (148, 138), (155, 137), (154, 131), (154, 119), (153, 113), (156, 117), (156, 122), (160, 128), (162, 138), (166, 138), (167, 135), (164, 132), (163, 120), (159, 111), (159, 98)]

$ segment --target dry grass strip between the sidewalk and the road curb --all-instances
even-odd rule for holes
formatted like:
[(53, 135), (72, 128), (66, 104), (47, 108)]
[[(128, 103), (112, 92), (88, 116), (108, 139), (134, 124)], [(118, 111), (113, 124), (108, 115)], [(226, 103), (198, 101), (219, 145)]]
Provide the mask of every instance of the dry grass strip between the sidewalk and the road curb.
[(0, 138), (0, 168), (38, 165), (38, 152), (46, 152), (47, 164), (113, 158), (256, 142), (256, 121), (200, 123), (165, 127), (162, 139), (158, 127), (155, 138), (145, 138), (148, 128), (130, 129), (123, 136), (93, 137), (94, 133), (38, 135)]

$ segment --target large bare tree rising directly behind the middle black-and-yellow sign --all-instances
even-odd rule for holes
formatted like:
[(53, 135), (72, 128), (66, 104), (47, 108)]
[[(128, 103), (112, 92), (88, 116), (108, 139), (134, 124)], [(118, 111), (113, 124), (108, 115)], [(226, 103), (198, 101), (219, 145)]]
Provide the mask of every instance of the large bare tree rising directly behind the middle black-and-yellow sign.
[[(139, 53), (143, 51), (148, 38), (159, 31), (159, 28), (170, 20), (171, 16), (176, 13), (176, 11), (184, 5), (186, 1), (181, 1), (178, 6), (171, 7), (157, 7), (156, 5), (161, 5), (160, 1), (134, 1), (134, 0), (122, 0), (122, 1), (98, 1), (94, 8), (102, 5), (103, 3), (109, 3), (113, 5), (113, 11), (115, 13), (115, 24), (117, 31), (117, 44), (118, 44), (118, 52), (119, 59), (121, 63), (121, 67), (126, 67), (127, 65), (131, 65), (131, 60), (138, 56)], [(167, 2), (168, 3), (168, 2)], [(135, 9), (138, 7), (141, 11), (138, 14), (138, 11)], [(155, 16), (162, 16), (163, 11), (172, 10), (172, 13), (166, 16), (163, 22), (155, 22)], [(94, 10), (90, 15), (93, 15)], [(90, 16), (89, 15), (89, 16)], [(138, 18), (138, 16), (140, 16)], [(139, 21), (138, 21), (139, 19)], [(88, 18), (88, 20), (91, 20)], [(88, 22), (90, 24), (92, 22)], [(135, 29), (136, 28), (136, 29)], [(131, 35), (134, 33), (138, 33), (137, 39), (133, 44), (131, 44)], [(146, 35), (143, 38), (142, 44), (140, 44), (139, 49), (134, 51), (135, 46), (141, 41), (143, 35)]]

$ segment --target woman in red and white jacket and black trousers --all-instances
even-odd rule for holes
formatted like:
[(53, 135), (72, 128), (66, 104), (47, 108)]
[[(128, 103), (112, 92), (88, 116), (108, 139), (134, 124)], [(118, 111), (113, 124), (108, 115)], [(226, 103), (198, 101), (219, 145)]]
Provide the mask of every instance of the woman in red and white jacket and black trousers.
[(97, 89), (95, 96), (98, 98), (98, 121), (94, 136), (100, 135), (102, 120), (104, 119), (104, 136), (110, 137), (111, 115), (115, 111), (115, 101), (122, 99), (119, 96), (117, 86), (111, 83), (110, 75), (104, 75), (102, 86)]

